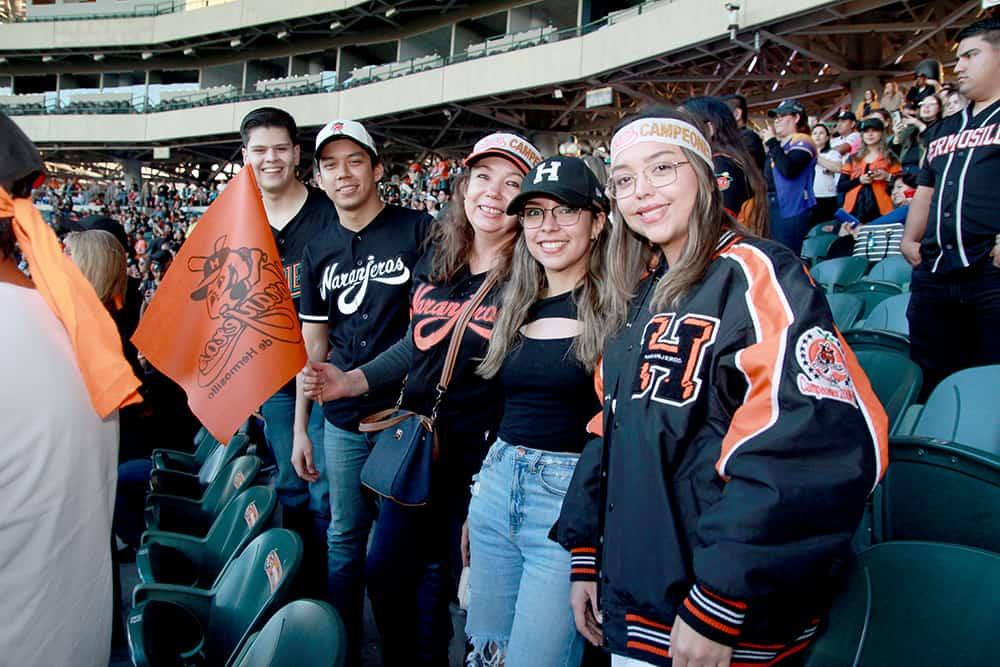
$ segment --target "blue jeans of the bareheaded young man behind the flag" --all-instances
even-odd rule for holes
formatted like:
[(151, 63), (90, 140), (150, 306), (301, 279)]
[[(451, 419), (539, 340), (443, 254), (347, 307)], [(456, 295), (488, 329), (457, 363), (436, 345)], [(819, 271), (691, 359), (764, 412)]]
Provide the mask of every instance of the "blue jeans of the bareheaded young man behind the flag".
[(320, 477), (312, 484), (295, 473), (292, 467), (292, 433), (295, 426), (295, 395), (276, 393), (261, 407), (264, 416), (264, 437), (274, 452), (278, 465), (278, 476), (274, 490), (282, 508), (286, 510), (308, 509), (317, 517), (327, 517), (330, 513), (329, 491), (326, 471), (323, 465), (323, 408), (314, 405), (309, 417), (309, 439), (313, 444), (313, 463)]

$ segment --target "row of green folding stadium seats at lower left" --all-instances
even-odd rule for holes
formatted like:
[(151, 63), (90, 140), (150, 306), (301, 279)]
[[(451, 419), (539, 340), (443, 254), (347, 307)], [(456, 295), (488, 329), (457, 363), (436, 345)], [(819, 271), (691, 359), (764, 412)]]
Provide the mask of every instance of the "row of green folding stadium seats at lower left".
[(237, 434), (204, 429), (193, 452), (153, 452), (141, 583), (128, 619), (133, 664), (334, 665), (345, 630), (325, 602), (294, 600), (302, 541), (273, 527), (277, 496)]

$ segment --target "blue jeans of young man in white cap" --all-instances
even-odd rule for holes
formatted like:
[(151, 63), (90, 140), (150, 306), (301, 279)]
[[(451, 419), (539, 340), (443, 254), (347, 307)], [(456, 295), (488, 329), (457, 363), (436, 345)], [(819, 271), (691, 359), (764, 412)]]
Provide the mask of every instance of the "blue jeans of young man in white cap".
[(327, 590), (347, 628), (348, 665), (361, 659), (365, 591), (365, 548), (375, 508), (361, 487), (361, 467), (368, 459), (368, 437), (325, 421), (323, 447), (330, 485), (327, 531)]

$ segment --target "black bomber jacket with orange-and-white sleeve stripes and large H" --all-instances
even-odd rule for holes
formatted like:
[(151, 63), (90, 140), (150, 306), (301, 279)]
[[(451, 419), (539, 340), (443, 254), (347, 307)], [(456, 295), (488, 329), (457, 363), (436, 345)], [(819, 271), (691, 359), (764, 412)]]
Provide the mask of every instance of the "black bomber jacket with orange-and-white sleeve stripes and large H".
[(680, 615), (734, 665), (804, 648), (887, 462), (887, 419), (784, 246), (727, 233), (677, 308), (639, 286), (602, 364), (603, 441), (553, 537), (606, 646), (670, 665)]

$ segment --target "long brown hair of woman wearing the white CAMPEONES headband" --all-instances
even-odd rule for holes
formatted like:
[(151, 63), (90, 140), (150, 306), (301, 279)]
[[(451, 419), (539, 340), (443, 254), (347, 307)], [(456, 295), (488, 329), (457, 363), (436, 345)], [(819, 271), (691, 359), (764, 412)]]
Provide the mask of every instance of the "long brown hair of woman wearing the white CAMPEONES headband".
[[(618, 124), (615, 132), (640, 118), (680, 120), (690, 123), (706, 134), (702, 123), (691, 114), (667, 106), (650, 107), (635, 116), (628, 117)], [(698, 193), (688, 221), (687, 241), (681, 250), (680, 258), (668, 268), (666, 275), (653, 292), (651, 304), (653, 310), (676, 307), (695, 283), (704, 277), (708, 266), (712, 263), (716, 245), (725, 227), (736, 226), (722, 206), (722, 193), (719, 192), (715, 181), (715, 169), (687, 148), (681, 147), (681, 151), (694, 170), (698, 181)], [(617, 202), (613, 203), (612, 210), (615, 224), (611, 229), (607, 249), (606, 273), (609, 280), (605, 281), (607, 293), (604, 295), (604, 303), (608, 317), (620, 324), (627, 317), (628, 306), (634, 297), (636, 286), (643, 275), (653, 267), (660, 255), (660, 249), (629, 228)]]

